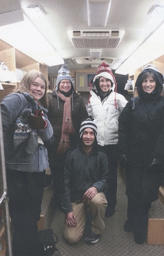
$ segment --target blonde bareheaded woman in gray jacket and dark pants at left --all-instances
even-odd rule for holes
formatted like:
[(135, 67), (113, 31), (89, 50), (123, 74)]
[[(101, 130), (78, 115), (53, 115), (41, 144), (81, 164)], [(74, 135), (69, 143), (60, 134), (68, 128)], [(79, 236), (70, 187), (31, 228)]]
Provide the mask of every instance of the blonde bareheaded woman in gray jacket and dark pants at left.
[(46, 87), (45, 76), (31, 70), (1, 102), (13, 256), (43, 255), (37, 221), (48, 167), (45, 144), (53, 140)]

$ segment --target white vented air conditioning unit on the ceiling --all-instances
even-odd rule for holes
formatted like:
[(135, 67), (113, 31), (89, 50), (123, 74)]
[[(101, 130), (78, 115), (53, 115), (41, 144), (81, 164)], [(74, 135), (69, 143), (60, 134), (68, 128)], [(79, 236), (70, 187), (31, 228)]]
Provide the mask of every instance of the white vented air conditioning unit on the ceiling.
[(117, 48), (125, 31), (110, 29), (82, 29), (67, 31), (76, 48)]

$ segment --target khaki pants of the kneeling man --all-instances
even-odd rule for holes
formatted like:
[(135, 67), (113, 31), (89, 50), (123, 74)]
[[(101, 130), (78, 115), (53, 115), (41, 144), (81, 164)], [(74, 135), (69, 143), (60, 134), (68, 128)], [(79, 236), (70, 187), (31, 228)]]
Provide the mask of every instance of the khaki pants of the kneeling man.
[(85, 203), (71, 203), (73, 212), (76, 216), (77, 226), (75, 228), (68, 227), (66, 224), (66, 217), (64, 219), (64, 236), (70, 244), (77, 243), (83, 236), (87, 207), (90, 209), (93, 221), (92, 231), (95, 234), (101, 234), (105, 228), (104, 215), (107, 208), (107, 200), (103, 192), (97, 193), (91, 200)]

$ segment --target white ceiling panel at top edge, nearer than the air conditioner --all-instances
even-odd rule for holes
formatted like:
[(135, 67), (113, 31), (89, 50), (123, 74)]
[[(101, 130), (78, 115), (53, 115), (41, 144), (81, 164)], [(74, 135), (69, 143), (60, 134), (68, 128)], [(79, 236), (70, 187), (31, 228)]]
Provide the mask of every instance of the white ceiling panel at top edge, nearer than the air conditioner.
[(110, 5), (111, 0), (87, 0), (88, 26), (105, 27), (107, 25)]

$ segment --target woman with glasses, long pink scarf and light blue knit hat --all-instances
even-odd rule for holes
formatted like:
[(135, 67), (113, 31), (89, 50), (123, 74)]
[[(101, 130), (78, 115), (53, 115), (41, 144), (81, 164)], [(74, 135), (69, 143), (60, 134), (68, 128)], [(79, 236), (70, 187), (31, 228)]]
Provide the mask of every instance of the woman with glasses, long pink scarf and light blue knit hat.
[(48, 119), (54, 131), (54, 141), (49, 148), (48, 157), (55, 198), (59, 200), (59, 195), (63, 191), (65, 152), (68, 148), (77, 146), (80, 124), (87, 117), (85, 102), (75, 92), (70, 71), (65, 64), (58, 71), (56, 88), (48, 93), (48, 101)]

